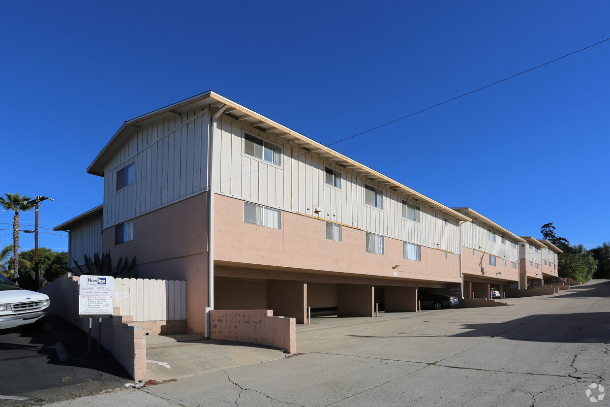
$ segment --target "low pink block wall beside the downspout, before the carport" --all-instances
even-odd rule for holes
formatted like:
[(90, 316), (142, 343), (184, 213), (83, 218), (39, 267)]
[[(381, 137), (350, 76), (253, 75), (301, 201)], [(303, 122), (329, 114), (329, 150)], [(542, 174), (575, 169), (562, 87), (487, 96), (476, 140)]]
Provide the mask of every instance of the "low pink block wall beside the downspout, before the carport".
[(274, 317), (271, 309), (210, 311), (210, 337), (296, 352), (295, 319)]

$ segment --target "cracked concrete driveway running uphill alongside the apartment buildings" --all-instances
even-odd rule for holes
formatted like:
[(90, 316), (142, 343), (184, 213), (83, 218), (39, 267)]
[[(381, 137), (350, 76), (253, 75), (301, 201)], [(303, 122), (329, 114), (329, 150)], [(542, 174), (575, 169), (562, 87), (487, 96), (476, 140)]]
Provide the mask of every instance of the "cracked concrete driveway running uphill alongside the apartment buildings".
[(314, 319), (303, 355), (57, 406), (589, 406), (590, 384), (610, 389), (610, 280), (506, 302)]

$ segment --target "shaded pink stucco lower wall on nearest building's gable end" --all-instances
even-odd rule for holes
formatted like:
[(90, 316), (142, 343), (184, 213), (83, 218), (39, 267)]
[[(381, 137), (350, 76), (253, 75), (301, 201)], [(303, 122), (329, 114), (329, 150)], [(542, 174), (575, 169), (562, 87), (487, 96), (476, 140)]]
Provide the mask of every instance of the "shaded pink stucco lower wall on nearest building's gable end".
[(205, 333), (208, 306), (207, 193), (136, 217), (134, 240), (115, 245), (115, 226), (102, 231), (104, 253), (114, 264), (136, 256), (139, 278), (187, 282), (187, 330)]

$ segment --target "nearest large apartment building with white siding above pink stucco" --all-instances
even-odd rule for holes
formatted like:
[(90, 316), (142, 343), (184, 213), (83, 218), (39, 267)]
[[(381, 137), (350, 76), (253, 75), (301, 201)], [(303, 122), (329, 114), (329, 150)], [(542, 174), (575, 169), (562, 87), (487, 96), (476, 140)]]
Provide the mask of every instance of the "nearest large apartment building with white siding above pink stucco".
[(87, 240), (71, 258), (101, 236), (140, 277), (185, 279), (193, 333), (214, 308), (303, 323), (307, 307), (415, 311), (417, 287), (462, 284), (467, 215), (215, 92), (127, 121), (88, 172), (104, 203), (60, 225)]

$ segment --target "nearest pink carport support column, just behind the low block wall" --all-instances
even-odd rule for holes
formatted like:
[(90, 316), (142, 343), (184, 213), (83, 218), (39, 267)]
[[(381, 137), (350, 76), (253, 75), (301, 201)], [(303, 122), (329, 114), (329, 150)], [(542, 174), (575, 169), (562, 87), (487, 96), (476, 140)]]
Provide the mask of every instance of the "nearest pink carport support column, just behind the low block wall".
[(267, 308), (273, 315), (307, 321), (307, 283), (304, 281), (267, 279)]

